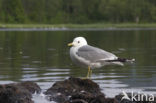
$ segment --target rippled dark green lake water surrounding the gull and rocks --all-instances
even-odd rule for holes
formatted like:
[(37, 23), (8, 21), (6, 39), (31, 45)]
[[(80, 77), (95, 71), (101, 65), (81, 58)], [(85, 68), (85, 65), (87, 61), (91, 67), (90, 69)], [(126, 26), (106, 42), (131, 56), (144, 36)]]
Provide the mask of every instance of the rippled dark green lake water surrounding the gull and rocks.
[[(119, 57), (136, 59), (123, 67), (93, 70), (91, 79), (106, 96), (123, 90), (156, 94), (156, 30), (0, 31), (0, 84), (34, 81), (45, 91), (70, 76), (85, 77), (87, 68), (77, 67), (69, 57), (67, 44), (77, 36)], [(34, 96), (36, 103), (39, 96)]]

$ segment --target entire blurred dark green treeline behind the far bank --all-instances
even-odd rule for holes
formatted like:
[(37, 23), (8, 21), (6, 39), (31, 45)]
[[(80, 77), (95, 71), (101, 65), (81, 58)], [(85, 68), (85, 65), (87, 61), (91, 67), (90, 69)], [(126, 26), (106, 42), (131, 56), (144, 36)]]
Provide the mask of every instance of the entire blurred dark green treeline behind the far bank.
[(0, 0), (0, 23), (156, 22), (156, 0)]

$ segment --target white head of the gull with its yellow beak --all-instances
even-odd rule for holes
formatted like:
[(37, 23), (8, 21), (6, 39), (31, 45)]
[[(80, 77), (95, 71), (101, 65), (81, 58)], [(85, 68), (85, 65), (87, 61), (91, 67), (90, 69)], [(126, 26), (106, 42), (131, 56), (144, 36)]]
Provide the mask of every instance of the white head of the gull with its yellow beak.
[(87, 45), (87, 41), (84, 37), (76, 37), (74, 38), (72, 43), (69, 43), (68, 46), (73, 46), (73, 47), (81, 47)]

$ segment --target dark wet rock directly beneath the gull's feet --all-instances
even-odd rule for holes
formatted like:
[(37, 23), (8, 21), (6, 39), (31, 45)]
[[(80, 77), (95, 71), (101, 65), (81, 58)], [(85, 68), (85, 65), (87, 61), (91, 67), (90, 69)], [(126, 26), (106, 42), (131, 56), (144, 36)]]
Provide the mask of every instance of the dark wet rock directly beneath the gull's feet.
[(106, 101), (98, 84), (90, 79), (73, 77), (56, 82), (45, 94), (50, 101), (58, 103), (105, 103)]

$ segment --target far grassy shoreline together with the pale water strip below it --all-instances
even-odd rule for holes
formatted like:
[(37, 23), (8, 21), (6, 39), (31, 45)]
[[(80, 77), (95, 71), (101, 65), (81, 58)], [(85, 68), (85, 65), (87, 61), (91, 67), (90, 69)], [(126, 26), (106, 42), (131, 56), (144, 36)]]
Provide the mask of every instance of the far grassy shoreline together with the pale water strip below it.
[(0, 31), (113, 31), (156, 30), (156, 23), (97, 24), (0, 24)]

